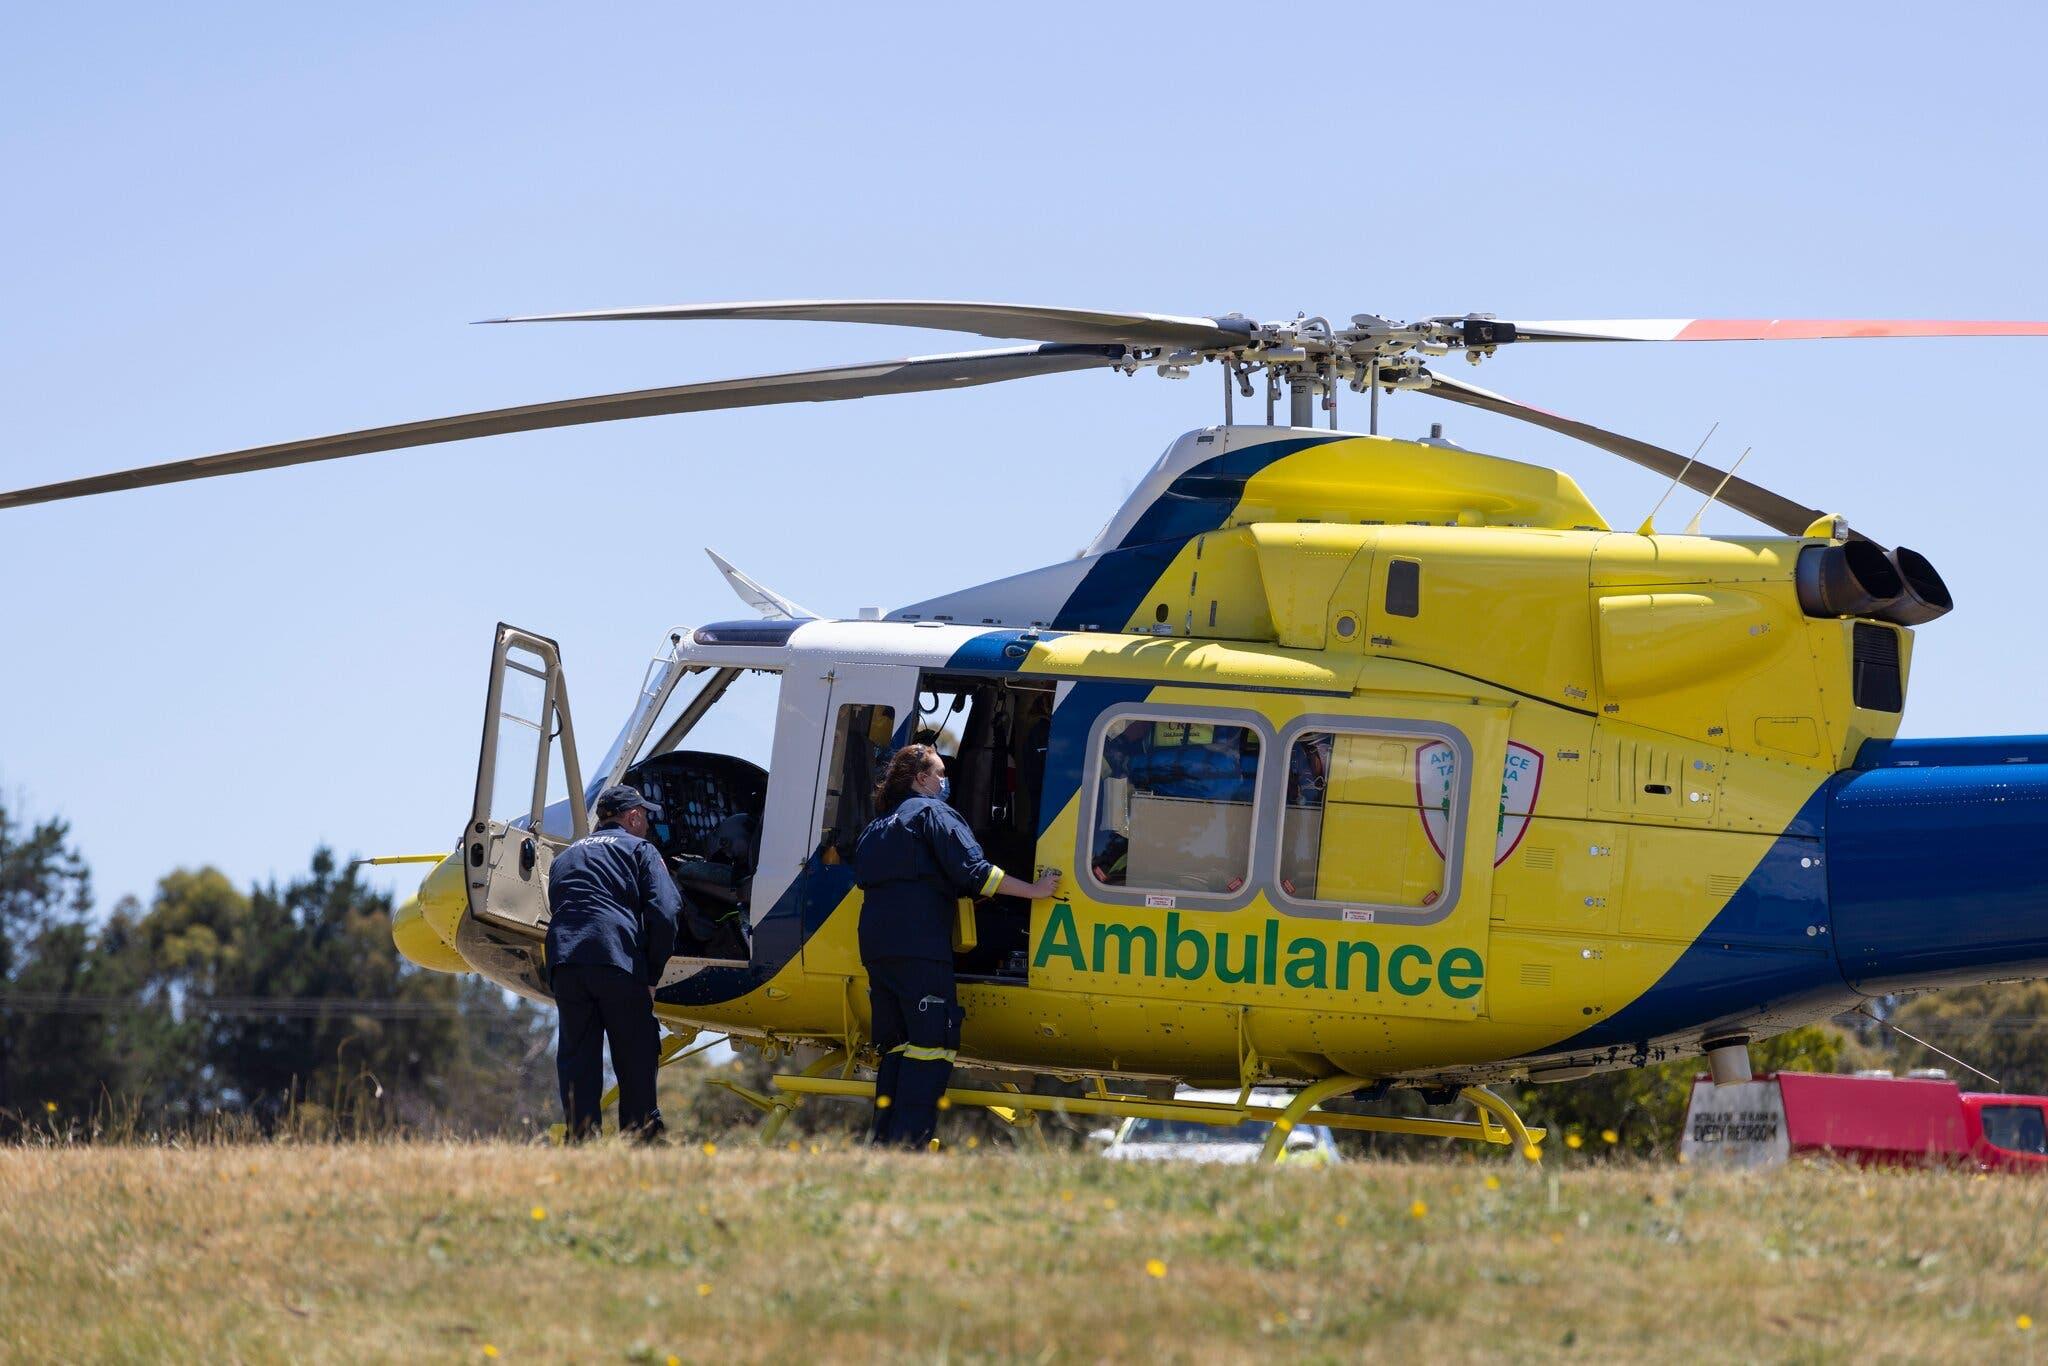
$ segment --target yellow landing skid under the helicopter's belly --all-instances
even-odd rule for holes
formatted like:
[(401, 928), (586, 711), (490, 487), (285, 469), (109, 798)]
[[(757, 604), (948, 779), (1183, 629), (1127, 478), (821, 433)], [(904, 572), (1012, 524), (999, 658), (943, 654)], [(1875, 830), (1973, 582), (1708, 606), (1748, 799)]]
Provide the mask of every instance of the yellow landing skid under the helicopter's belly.
[[(872, 1100), (874, 1083), (852, 1077), (776, 1075), (770, 1085), (791, 1096), (831, 1096), (838, 1100)], [(1479, 1120), (1421, 1120), (1393, 1114), (1337, 1114), (1319, 1110), (1325, 1100), (1370, 1085), (1362, 1077), (1331, 1077), (1305, 1087), (1294, 1100), (1280, 1106), (1229, 1106), (1206, 1100), (1147, 1100), (1145, 1096), (1120, 1096), (1102, 1092), (1096, 1096), (1032, 1096), (1026, 1092), (979, 1092), (952, 1087), (946, 1102), (954, 1106), (983, 1106), (997, 1118), (1016, 1124), (1028, 1118), (1024, 1112), (1051, 1114), (1102, 1114), (1110, 1118), (1151, 1118), (1151, 1120), (1192, 1120), (1196, 1124), (1241, 1124), (1245, 1120), (1272, 1120), (1274, 1130), (1266, 1139), (1262, 1157), (1274, 1161), (1286, 1145), (1286, 1135), (1296, 1124), (1327, 1124), (1329, 1128), (1352, 1128), (1362, 1133), (1417, 1135), (1423, 1139), (1464, 1139), (1468, 1143), (1516, 1145), (1530, 1161), (1542, 1157), (1542, 1128), (1526, 1128), (1513, 1108), (1483, 1085), (1468, 1085), (1460, 1092), (1479, 1110)], [(788, 1102), (762, 1096), (745, 1087), (731, 1085), (733, 1094), (764, 1112), (786, 1112)], [(780, 1116), (776, 1116), (780, 1118)], [(1495, 1122), (1495, 1118), (1499, 1122)]]

